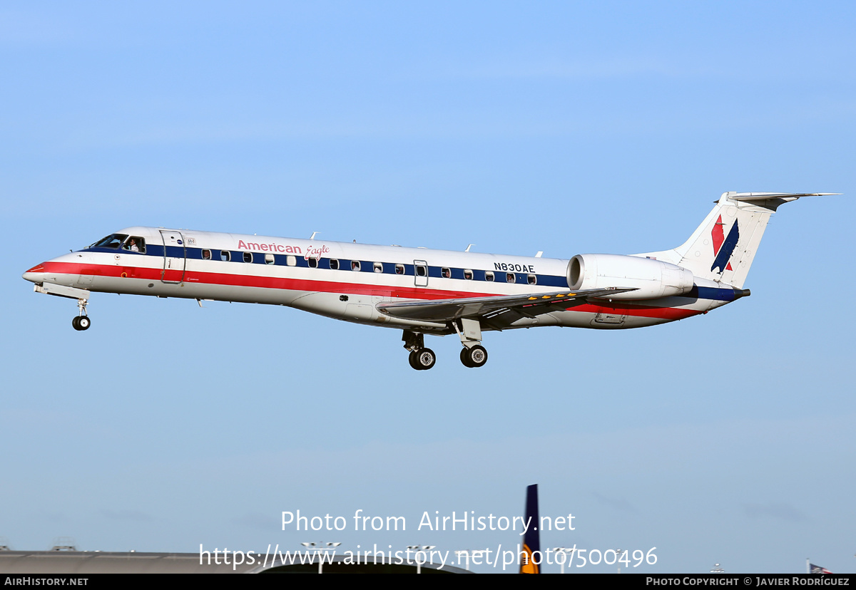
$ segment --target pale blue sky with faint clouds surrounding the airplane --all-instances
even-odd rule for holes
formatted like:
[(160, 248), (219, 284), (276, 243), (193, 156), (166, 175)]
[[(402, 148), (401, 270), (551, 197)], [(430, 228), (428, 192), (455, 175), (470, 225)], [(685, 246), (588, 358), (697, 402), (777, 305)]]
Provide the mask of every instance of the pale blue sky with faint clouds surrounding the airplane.
[[(637, 571), (853, 571), (852, 3), (4, 3), (0, 536), (193, 552), (516, 516), (527, 484)], [(572, 257), (679, 245), (725, 191), (752, 297), (627, 332), (400, 333), (21, 273), (130, 225)], [(282, 531), (282, 510), (406, 533)], [(410, 527), (413, 527), (413, 530)], [(552, 568), (557, 570), (556, 567)], [(490, 570), (485, 568), (483, 570)], [(611, 571), (595, 566), (578, 571)]]

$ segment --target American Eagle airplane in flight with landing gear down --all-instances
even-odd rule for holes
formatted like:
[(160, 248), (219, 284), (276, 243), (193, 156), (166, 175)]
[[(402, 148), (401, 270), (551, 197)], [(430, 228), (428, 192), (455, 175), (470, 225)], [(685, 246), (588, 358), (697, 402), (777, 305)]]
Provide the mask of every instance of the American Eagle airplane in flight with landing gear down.
[(785, 203), (835, 192), (725, 192), (672, 250), (570, 259), (126, 227), (30, 268), (36, 292), (92, 292), (286, 305), (402, 330), (413, 369), (437, 356), (425, 334), (457, 334), (461, 363), (483, 367), (482, 333), (521, 327), (621, 329), (706, 314), (750, 294), (743, 285), (767, 222)]

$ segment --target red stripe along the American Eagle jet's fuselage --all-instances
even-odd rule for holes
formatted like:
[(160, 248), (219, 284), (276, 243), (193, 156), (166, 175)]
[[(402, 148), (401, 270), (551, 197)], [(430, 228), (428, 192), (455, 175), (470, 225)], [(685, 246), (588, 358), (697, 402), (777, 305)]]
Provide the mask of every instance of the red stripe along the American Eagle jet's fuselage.
[[(92, 274), (93, 276), (120, 277), (126, 274), (131, 279), (161, 280), (161, 268), (113, 266), (86, 263), (42, 263), (37, 267), (44, 273)], [(181, 271), (173, 271), (180, 275)], [(491, 297), (496, 293), (446, 291), (427, 287), (401, 287), (366, 285), (363, 283), (340, 283), (332, 280), (288, 279), (283, 277), (258, 276), (255, 274), (225, 274), (185, 271), (184, 282), (193, 285), (251, 286), (264, 289), (282, 289), (286, 291), (309, 291), (327, 293), (348, 293), (351, 295), (376, 295), (406, 299), (454, 299), (470, 297)], [(685, 310), (674, 307), (650, 307), (638, 304), (582, 304), (568, 308), (568, 311), (584, 313), (609, 313), (617, 316), (654, 317), (663, 320), (682, 320), (696, 316), (701, 311)]]

